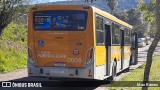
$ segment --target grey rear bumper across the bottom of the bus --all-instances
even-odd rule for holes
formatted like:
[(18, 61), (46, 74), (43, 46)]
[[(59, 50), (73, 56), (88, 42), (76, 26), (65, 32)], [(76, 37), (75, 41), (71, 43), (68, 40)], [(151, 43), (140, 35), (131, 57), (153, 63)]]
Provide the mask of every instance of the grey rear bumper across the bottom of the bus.
[(94, 79), (93, 65), (86, 68), (37, 67), (28, 63), (29, 77)]

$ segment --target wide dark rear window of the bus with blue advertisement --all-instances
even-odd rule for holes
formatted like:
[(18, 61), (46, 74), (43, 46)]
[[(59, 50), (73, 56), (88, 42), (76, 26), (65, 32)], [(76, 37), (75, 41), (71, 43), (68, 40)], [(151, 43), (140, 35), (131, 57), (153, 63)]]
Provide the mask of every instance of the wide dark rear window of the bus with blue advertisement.
[(88, 13), (78, 10), (49, 10), (33, 13), (35, 30), (83, 31)]

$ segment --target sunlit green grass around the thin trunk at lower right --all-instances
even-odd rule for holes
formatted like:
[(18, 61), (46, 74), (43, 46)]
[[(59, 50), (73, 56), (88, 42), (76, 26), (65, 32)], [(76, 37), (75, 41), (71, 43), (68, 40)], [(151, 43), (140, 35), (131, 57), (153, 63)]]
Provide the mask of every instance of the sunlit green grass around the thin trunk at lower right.
[[(112, 83), (109, 90), (141, 90), (141, 87), (136, 87), (136, 83), (130, 83), (130, 81), (143, 81), (143, 73), (144, 73), (145, 64), (140, 66), (138, 69), (131, 72), (129, 75), (123, 77), (120, 81), (126, 82), (115, 82)], [(128, 82), (127, 82), (128, 81)], [(160, 55), (156, 55), (153, 57), (151, 72), (150, 72), (150, 81), (160, 81)], [(160, 90), (160, 83), (159, 87), (149, 87), (149, 90)], [(124, 86), (124, 87), (116, 87), (116, 86)], [(126, 87), (127, 86), (127, 87)], [(135, 87), (129, 87), (135, 86)]]

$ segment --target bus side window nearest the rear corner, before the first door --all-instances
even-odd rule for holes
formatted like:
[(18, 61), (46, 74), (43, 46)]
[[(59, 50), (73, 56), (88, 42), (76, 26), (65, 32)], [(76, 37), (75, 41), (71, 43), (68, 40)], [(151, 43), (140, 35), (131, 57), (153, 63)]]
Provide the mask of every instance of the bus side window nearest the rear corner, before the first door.
[(104, 45), (104, 27), (103, 27), (103, 18), (96, 17), (96, 43), (98, 46)]

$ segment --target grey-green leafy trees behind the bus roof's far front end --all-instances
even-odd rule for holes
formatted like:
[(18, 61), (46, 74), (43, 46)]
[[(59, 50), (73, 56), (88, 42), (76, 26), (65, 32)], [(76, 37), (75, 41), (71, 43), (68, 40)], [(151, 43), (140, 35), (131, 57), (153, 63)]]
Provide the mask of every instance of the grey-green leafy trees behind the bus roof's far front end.
[(147, 35), (146, 21), (143, 20), (142, 13), (137, 9), (123, 10), (113, 13), (117, 18), (131, 24), (133, 31), (136, 31), (139, 37), (143, 38)]

